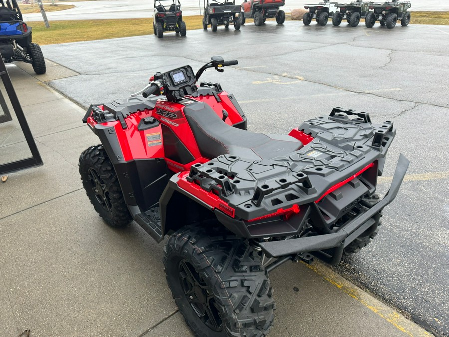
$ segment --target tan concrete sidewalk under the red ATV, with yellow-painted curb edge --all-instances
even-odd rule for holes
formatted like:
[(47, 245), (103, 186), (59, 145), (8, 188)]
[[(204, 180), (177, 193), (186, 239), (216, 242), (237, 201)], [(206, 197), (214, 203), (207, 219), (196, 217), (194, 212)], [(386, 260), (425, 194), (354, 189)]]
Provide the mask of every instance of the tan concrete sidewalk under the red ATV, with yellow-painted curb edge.
[[(40, 77), (7, 67), (44, 165), (0, 183), (0, 336), (191, 336), (166, 286), (164, 243), (137, 224), (106, 226), (89, 203), (77, 163), (98, 139), (85, 111), (41, 82), (76, 73), (48, 63)], [(0, 124), (2, 163), (26, 147), (13, 118)], [(430, 336), (320, 263), (287, 263), (271, 279), (270, 336)]]

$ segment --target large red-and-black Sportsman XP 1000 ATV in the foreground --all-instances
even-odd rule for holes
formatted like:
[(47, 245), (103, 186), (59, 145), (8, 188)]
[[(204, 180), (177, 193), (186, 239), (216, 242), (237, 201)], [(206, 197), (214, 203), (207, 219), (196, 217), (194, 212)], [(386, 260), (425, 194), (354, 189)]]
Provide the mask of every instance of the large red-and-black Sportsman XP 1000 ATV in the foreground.
[(409, 164), (401, 155), (379, 200), (396, 131), (366, 112), (337, 107), (288, 135), (247, 131), (232, 94), (197, 85), (204, 70), (237, 63), (215, 56), (196, 74), (157, 72), (83, 118), (102, 143), (79, 159), (91, 203), (112, 227), (134, 220), (157, 242), (168, 236), (167, 283), (199, 336), (264, 336), (275, 306), (268, 273), (366, 246)]

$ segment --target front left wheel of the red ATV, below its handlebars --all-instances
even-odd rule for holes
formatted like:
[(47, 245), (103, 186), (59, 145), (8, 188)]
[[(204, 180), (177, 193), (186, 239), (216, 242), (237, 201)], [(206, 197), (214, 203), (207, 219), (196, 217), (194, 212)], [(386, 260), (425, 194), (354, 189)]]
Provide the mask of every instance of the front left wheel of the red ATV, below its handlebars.
[(91, 146), (81, 153), (79, 173), (90, 202), (109, 226), (124, 227), (132, 221), (103, 145)]

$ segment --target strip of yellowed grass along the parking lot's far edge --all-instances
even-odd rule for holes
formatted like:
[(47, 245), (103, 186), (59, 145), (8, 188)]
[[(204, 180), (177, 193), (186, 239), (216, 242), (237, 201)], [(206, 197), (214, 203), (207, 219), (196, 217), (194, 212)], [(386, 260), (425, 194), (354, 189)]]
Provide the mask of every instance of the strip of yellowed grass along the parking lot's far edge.
[[(411, 24), (449, 25), (449, 12), (411, 12)], [(188, 30), (202, 28), (202, 16), (184, 16)], [(246, 20), (251, 24), (252, 20)], [(153, 19), (50, 21), (50, 28), (43, 22), (30, 22), (33, 42), (41, 45), (66, 42), (103, 40), (108, 38), (153, 34)], [(209, 27), (210, 29), (210, 27)], [(233, 29), (230, 27), (230, 29)], [(165, 33), (164, 33), (165, 34)], [(169, 32), (174, 34), (174, 32)]]

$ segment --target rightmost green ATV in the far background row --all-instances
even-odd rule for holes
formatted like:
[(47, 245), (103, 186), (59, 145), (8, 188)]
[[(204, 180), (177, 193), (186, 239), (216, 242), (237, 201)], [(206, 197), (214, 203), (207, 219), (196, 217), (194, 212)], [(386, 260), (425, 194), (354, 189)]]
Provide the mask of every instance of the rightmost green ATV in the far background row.
[(381, 26), (387, 26), (388, 29), (392, 29), (396, 26), (396, 21), (401, 21), (403, 27), (410, 23), (410, 12), (407, 11), (412, 5), (410, 1), (398, 1), (391, 0), (385, 2), (371, 2), (370, 9), (373, 10), (373, 15), (367, 16), (366, 26), (369, 24), (374, 25), (376, 21), (379, 21)]

